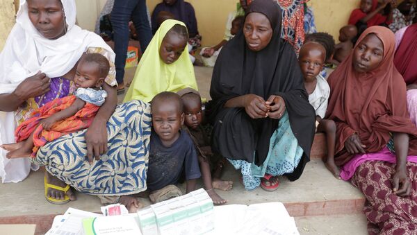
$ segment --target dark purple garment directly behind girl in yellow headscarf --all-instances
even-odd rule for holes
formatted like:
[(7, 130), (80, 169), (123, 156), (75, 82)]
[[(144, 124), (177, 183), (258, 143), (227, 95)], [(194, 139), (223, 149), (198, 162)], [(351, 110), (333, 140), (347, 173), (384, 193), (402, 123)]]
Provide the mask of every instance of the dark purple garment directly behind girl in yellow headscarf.
[(187, 26), (190, 37), (195, 37), (195, 35), (198, 34), (197, 19), (195, 18), (194, 8), (190, 3), (184, 0), (177, 0), (177, 2), (172, 6), (168, 6), (163, 2), (156, 5), (154, 12), (152, 12), (152, 33), (155, 33), (158, 29), (156, 17), (161, 11), (171, 12), (175, 19), (183, 21)]

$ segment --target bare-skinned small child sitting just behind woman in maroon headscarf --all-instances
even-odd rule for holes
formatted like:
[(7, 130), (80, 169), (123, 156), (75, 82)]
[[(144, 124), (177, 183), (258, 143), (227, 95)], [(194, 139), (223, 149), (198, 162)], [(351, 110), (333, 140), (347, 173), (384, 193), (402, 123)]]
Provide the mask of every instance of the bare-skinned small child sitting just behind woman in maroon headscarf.
[(357, 27), (354, 25), (343, 26), (339, 31), (339, 44), (334, 46), (333, 64), (340, 64), (353, 49), (352, 40), (358, 34)]

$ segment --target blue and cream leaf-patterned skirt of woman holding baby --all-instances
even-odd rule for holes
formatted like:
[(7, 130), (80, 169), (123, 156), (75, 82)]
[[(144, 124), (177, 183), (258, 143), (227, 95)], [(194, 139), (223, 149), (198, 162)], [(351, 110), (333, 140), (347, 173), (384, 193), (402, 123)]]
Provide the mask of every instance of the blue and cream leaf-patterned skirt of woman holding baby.
[(118, 105), (108, 120), (108, 152), (90, 165), (82, 130), (40, 148), (33, 163), (77, 191), (93, 195), (129, 195), (147, 189), (152, 116), (150, 105), (131, 101)]

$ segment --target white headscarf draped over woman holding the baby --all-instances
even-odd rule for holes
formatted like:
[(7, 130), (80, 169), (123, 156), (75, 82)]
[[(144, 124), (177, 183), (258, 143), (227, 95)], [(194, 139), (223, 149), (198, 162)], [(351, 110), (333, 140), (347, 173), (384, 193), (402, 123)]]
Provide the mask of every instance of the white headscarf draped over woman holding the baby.
[(26, 0), (20, 1), (16, 24), (0, 54), (0, 94), (13, 92), (20, 82), (38, 71), (46, 73), (50, 78), (65, 75), (88, 47), (112, 51), (99, 35), (75, 25), (74, 0), (61, 2), (68, 26), (67, 33), (56, 40), (49, 40), (31, 23)]

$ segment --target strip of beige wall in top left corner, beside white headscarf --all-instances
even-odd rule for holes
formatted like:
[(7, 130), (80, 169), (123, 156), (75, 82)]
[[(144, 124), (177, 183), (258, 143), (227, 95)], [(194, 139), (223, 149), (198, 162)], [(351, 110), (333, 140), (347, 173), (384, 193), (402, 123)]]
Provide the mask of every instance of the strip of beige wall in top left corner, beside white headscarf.
[(15, 25), (15, 4), (13, 0), (0, 0), (0, 50)]

